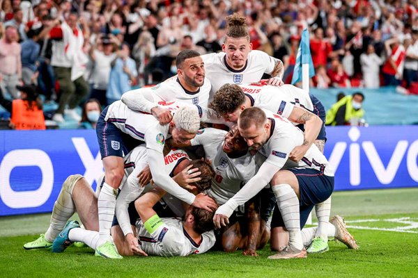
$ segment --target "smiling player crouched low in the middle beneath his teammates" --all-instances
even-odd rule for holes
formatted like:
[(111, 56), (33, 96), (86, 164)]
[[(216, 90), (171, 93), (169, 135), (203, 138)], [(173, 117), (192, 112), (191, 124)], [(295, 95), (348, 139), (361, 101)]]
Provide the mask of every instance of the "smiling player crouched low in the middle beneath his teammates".
[[(171, 147), (203, 146), (215, 170), (215, 179), (208, 193), (218, 204), (226, 203), (242, 184), (246, 183), (258, 171), (265, 158), (261, 154), (251, 156), (248, 146), (240, 136), (238, 126), (231, 127), (229, 132), (219, 129), (201, 129), (194, 139), (183, 144), (167, 140)], [(256, 256), (256, 250), (263, 248), (270, 238), (270, 229), (265, 229), (270, 212), (275, 204), (274, 194), (270, 188), (263, 191), (237, 208), (229, 225), (217, 231), (217, 247), (226, 252), (238, 248), (243, 254)]]

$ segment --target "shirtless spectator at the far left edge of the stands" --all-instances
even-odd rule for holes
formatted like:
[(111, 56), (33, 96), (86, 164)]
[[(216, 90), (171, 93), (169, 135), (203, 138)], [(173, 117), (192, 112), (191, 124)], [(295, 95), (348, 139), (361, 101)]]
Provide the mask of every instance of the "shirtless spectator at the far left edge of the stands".
[(0, 40), (0, 88), (3, 94), (8, 93), (13, 99), (20, 97), (16, 85), (22, 83), (22, 47), (17, 40), (16, 26), (7, 26), (4, 38)]

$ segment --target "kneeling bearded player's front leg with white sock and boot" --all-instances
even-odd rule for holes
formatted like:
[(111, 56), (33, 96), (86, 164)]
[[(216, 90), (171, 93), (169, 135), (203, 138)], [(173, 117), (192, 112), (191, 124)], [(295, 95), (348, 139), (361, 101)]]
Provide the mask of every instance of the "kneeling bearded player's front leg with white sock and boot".
[(270, 182), (274, 195), (277, 198), (277, 206), (284, 222), (284, 227), (289, 234), (289, 244), (279, 254), (270, 259), (304, 258), (306, 251), (302, 242), (300, 231), (300, 190), (299, 182), (293, 172), (280, 170)]

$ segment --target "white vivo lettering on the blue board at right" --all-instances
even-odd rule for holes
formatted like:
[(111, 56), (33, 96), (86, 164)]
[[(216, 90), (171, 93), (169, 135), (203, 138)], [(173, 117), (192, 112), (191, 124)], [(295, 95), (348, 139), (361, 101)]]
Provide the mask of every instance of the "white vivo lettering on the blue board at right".
[(394, 180), (396, 172), (398, 172), (401, 161), (406, 156), (406, 166), (410, 177), (418, 182), (418, 140), (408, 144), (407, 140), (399, 140), (396, 144), (394, 152), (392, 153), (389, 163), (383, 165), (380, 155), (378, 154), (375, 145), (371, 141), (357, 142), (361, 136), (357, 127), (352, 127), (348, 131), (348, 138), (352, 143), (348, 146), (346, 142), (337, 142), (330, 154), (330, 164), (335, 170), (339, 167), (343, 154), (348, 149), (349, 152), (349, 165), (350, 165), (350, 184), (352, 186), (358, 186), (361, 182), (361, 161), (360, 161), (360, 148), (363, 149), (366, 157), (373, 169), (374, 174), (378, 178), (378, 181), (382, 184), (389, 184)]

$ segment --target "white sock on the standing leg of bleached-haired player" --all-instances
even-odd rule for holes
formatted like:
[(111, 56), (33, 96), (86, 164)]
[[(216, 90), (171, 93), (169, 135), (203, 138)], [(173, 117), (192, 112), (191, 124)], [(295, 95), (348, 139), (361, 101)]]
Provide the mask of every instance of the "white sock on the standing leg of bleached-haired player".
[(115, 207), (116, 195), (114, 188), (107, 183), (103, 183), (98, 199), (100, 244), (111, 240), (110, 228), (115, 215)]

